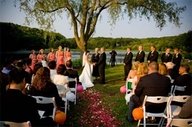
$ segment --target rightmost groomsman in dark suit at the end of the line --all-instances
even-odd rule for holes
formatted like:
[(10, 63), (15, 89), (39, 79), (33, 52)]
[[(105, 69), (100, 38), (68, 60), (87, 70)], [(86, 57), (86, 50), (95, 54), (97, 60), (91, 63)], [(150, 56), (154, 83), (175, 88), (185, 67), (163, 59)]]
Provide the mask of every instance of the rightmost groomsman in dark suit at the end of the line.
[(175, 66), (173, 67), (173, 78), (174, 79), (179, 76), (179, 67), (181, 64), (181, 60), (182, 60), (182, 55), (181, 55), (179, 49), (175, 48), (173, 60), (172, 60), (173, 64), (175, 64)]

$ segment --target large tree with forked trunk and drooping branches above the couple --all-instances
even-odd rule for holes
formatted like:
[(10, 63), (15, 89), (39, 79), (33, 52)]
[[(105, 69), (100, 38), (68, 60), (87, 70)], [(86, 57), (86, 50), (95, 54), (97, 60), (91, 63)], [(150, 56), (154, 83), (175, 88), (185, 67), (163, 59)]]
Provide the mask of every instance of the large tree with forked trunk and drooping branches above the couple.
[(111, 16), (112, 23), (121, 16), (128, 16), (129, 20), (139, 16), (154, 19), (160, 29), (167, 21), (179, 26), (179, 15), (185, 10), (167, 0), (19, 0), (19, 6), (26, 14), (27, 23), (37, 21), (42, 28), (51, 28), (56, 16), (66, 12), (82, 51), (87, 49), (88, 40), (104, 10)]

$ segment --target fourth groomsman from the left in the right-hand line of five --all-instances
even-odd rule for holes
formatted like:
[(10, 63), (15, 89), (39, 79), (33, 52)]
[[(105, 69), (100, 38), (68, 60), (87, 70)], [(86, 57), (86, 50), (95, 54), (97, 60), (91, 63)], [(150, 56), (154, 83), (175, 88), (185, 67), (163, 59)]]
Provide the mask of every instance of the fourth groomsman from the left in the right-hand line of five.
[(172, 54), (170, 53), (171, 49), (166, 48), (165, 52), (161, 55), (161, 61), (163, 63), (171, 62), (172, 61)]

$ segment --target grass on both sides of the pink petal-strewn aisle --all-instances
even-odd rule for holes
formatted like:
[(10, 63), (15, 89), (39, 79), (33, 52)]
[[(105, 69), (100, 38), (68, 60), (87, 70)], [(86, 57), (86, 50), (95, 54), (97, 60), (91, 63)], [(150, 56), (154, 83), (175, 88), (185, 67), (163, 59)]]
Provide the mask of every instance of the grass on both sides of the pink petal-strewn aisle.
[[(123, 74), (123, 65), (117, 65), (113, 68), (107, 66), (106, 84), (101, 85), (99, 83), (95, 83), (93, 89), (101, 94), (103, 106), (110, 110), (114, 117), (120, 121), (121, 127), (129, 127), (131, 124), (126, 120), (128, 106), (125, 104), (125, 95), (119, 91), (120, 87), (125, 84), (125, 81), (123, 80)], [(82, 112), (87, 108), (89, 102), (86, 101), (86, 97), (82, 97), (82, 93), (79, 93), (78, 95), (79, 99), (77, 105), (71, 107), (70, 111), (68, 112), (68, 119), (65, 126), (79, 127), (79, 121), (81, 119)]]

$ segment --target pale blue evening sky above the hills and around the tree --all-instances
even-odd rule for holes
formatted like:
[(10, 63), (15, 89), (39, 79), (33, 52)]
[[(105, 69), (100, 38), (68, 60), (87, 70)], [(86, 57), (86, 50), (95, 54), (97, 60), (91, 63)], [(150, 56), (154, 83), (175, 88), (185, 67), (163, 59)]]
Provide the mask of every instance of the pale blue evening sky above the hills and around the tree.
[[(19, 25), (24, 25), (25, 14), (19, 10), (19, 7), (14, 7), (13, 0), (0, 0), (0, 22), (10, 22)], [(5, 2), (2, 2), (5, 1)], [(167, 22), (162, 30), (156, 26), (156, 23), (142, 18), (134, 18), (128, 20), (120, 19), (115, 25), (110, 25), (110, 18), (106, 12), (102, 13), (101, 20), (98, 20), (96, 30), (93, 37), (129, 37), (129, 38), (147, 38), (147, 37), (163, 37), (174, 36), (186, 33), (192, 30), (192, 0), (169, 0), (176, 2), (178, 6), (186, 6), (186, 10), (181, 14), (181, 26), (176, 27), (174, 24)], [(64, 14), (63, 14), (64, 15)], [(29, 27), (39, 28), (36, 23)], [(70, 21), (64, 15), (63, 18), (56, 18), (54, 22), (55, 32), (61, 33), (67, 38), (73, 37), (73, 28), (70, 26)]]

